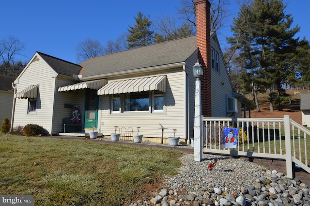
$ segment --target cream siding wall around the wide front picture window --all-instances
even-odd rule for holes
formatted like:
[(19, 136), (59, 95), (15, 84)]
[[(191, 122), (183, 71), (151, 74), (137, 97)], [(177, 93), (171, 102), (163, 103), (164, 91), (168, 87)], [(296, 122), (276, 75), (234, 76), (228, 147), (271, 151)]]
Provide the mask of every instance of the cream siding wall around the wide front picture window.
[[(141, 127), (139, 134), (143, 137), (161, 137), (161, 129), (159, 124), (164, 126), (164, 138), (173, 136), (174, 128), (177, 129), (176, 135), (184, 139), (185, 131), (185, 112), (186, 104), (184, 102), (184, 71), (183, 68), (173, 69), (167, 73), (156, 73), (155, 75), (167, 75), (166, 93), (164, 94), (164, 111), (162, 112), (119, 112), (113, 113), (111, 108), (111, 96), (101, 95), (101, 128), (100, 132), (104, 135), (114, 133), (114, 126), (118, 126), (120, 132), (124, 133), (124, 129), (131, 128), (134, 134), (137, 134), (137, 127)], [(141, 78), (141, 76), (139, 76)], [(120, 79), (122, 80), (122, 79)], [(108, 79), (109, 82), (109, 79)], [(150, 91), (152, 93), (152, 91)], [(123, 128), (123, 131), (122, 131)], [(118, 132), (118, 131), (117, 131)]]

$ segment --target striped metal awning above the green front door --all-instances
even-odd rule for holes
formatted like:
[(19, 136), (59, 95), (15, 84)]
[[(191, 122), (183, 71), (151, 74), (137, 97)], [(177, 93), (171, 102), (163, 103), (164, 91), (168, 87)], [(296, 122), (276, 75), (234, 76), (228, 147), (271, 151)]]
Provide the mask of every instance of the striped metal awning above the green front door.
[(83, 81), (77, 84), (63, 86), (58, 88), (58, 92), (72, 91), (78, 89), (100, 89), (107, 84), (107, 79), (99, 79), (92, 81)]

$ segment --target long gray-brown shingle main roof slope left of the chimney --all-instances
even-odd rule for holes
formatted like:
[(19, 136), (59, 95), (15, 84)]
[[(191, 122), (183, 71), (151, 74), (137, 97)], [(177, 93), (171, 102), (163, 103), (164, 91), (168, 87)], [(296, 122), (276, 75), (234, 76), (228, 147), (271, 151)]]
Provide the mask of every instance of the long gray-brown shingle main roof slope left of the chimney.
[(79, 63), (82, 77), (185, 62), (197, 49), (196, 35), (93, 57)]

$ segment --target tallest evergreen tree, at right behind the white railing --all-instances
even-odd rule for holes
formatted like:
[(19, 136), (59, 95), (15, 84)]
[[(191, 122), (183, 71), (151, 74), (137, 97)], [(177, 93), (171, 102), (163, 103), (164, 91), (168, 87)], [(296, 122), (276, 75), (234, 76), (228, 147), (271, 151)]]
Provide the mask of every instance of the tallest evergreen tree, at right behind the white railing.
[(239, 58), (244, 59), (243, 71), (250, 74), (253, 91), (268, 92), (270, 111), (274, 103), (280, 106), (285, 98), (280, 91), (294, 70), (291, 59), (300, 46), (299, 40), (293, 38), (300, 28), (290, 29), (293, 17), (284, 14), (285, 8), (282, 0), (244, 4), (233, 21), (233, 37), (228, 38), (232, 53), (239, 51)]

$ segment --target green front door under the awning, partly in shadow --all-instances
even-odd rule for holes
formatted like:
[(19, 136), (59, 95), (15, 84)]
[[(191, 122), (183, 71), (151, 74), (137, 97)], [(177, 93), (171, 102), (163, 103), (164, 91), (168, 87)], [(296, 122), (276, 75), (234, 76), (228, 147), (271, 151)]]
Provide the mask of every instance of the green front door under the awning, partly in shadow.
[(86, 91), (86, 105), (85, 105), (85, 129), (97, 129), (98, 122), (98, 102), (99, 98), (97, 90)]

